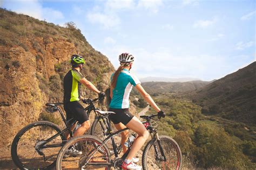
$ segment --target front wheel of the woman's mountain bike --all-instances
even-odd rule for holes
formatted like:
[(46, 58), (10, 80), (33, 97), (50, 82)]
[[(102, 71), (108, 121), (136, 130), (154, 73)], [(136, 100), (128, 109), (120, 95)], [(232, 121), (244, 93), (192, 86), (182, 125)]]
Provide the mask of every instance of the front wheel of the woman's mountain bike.
[(142, 155), (143, 169), (181, 169), (181, 151), (177, 142), (166, 135), (160, 135), (159, 138), (166, 161), (157, 160), (153, 144), (157, 145), (159, 153), (160, 149), (156, 138), (154, 138), (150, 140), (144, 148)]

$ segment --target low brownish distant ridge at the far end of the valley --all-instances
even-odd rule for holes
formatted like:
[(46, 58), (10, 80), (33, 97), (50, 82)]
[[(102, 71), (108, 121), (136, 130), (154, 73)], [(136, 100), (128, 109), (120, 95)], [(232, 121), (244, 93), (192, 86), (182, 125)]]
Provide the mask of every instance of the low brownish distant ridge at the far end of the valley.
[(144, 89), (153, 93), (163, 93), (163, 92), (186, 92), (200, 89), (206, 85), (210, 84), (209, 81), (188, 81), (184, 83), (180, 82), (145, 82), (142, 83)]

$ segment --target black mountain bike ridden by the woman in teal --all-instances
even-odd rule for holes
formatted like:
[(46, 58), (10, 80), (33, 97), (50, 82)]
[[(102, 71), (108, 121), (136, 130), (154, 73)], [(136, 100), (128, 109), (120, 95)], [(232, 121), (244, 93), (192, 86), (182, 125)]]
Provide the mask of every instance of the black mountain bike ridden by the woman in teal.
[[(102, 115), (106, 118), (110, 112), (104, 112)], [(145, 119), (143, 122), (151, 135), (151, 140), (147, 142), (143, 155), (142, 166), (143, 169), (181, 169), (181, 151), (176, 141), (166, 135), (158, 135), (157, 114), (142, 115), (140, 118)], [(109, 119), (105, 119), (106, 122)], [(108, 128), (110, 128), (109, 126)], [(97, 169), (105, 168), (115, 169), (121, 168), (123, 160), (130, 152), (132, 144), (128, 146), (127, 152), (122, 157), (118, 157), (117, 145), (114, 141), (114, 136), (122, 133), (129, 128), (112, 132), (109, 129), (110, 135), (103, 141), (92, 135), (83, 135), (68, 141), (62, 149), (60, 149), (56, 169)], [(107, 141), (111, 140), (114, 155), (111, 155), (109, 147), (106, 145)], [(65, 157), (65, 152), (70, 147), (75, 147), (78, 151), (82, 151), (82, 155), (78, 157)]]

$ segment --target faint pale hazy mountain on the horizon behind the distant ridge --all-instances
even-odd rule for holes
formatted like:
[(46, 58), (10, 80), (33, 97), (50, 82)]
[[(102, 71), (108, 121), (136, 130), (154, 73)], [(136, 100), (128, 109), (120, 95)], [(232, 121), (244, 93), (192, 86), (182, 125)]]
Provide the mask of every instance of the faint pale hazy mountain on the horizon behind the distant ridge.
[(187, 81), (197, 81), (198, 78), (166, 78), (166, 77), (145, 77), (139, 79), (141, 82), (187, 82)]

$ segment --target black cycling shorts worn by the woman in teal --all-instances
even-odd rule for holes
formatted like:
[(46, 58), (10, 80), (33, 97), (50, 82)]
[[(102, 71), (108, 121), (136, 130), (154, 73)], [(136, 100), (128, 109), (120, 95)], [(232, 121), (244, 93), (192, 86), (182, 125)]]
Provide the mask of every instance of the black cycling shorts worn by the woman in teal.
[(109, 118), (114, 124), (122, 123), (126, 125), (134, 117), (129, 112), (129, 108), (109, 108), (109, 111), (115, 112), (116, 114), (110, 114)]

